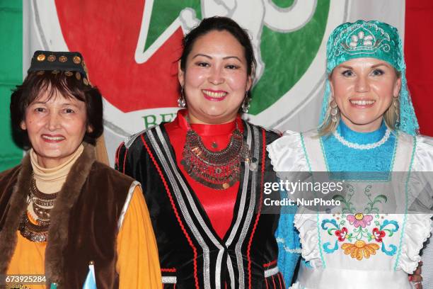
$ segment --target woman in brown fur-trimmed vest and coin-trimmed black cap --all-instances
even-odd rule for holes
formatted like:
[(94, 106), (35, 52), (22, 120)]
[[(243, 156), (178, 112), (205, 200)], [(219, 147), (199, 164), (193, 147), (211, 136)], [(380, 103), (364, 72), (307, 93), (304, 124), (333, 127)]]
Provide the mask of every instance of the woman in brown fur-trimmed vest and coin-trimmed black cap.
[(102, 116), (78, 52), (35, 52), (11, 96), (12, 124), (30, 151), (0, 174), (0, 274), (81, 288), (94, 270), (98, 288), (159, 287), (139, 183), (96, 162)]

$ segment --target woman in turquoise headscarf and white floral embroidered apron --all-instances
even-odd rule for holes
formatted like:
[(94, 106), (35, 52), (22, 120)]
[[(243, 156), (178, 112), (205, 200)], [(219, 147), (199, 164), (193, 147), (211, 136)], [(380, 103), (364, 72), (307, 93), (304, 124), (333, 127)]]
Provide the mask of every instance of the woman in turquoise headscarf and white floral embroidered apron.
[[(379, 21), (338, 26), (326, 68), (321, 125), (267, 147), (282, 179), (325, 171), (343, 188), (326, 196), (335, 206), (296, 212), (303, 261), (293, 288), (412, 288), (431, 229), (432, 178), (420, 172), (433, 171), (433, 140), (417, 133), (398, 31)], [(289, 220), (280, 219), (283, 242), (293, 239)]]

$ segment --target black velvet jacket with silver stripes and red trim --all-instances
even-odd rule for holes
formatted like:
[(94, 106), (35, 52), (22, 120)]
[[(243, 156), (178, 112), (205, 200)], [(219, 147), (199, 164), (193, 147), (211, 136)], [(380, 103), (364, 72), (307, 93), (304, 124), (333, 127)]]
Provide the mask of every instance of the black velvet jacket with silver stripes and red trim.
[(266, 145), (275, 132), (249, 123), (244, 140), (258, 167), (242, 164), (233, 220), (224, 239), (175, 161), (163, 125), (129, 137), (116, 169), (142, 183), (158, 243), (164, 288), (284, 288), (277, 268), (278, 214), (263, 213), (263, 184), (275, 181)]

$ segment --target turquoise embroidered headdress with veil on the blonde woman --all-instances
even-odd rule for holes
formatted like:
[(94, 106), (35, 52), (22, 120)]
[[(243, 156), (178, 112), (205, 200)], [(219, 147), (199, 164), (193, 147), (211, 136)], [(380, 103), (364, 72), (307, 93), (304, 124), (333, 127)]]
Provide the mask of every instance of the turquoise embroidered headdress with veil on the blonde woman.
[[(380, 21), (363, 20), (354, 23), (347, 22), (335, 28), (326, 47), (326, 72), (330, 74), (342, 62), (362, 57), (386, 61), (400, 72), (400, 121), (396, 123), (396, 128), (410, 135), (416, 135), (419, 125), (410, 101), (403, 43), (397, 28)], [(327, 79), (321, 111), (321, 125), (324, 125), (329, 102), (330, 83)]]

